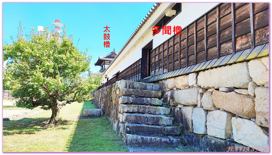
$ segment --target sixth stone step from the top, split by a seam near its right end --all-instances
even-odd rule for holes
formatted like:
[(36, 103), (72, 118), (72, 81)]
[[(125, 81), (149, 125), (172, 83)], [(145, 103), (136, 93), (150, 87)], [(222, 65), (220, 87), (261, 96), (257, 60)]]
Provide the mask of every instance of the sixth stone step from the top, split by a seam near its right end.
[(180, 128), (151, 126), (151, 125), (134, 124), (134, 123), (125, 124), (125, 134), (156, 136), (158, 133), (163, 133), (165, 135), (178, 135), (180, 134)]

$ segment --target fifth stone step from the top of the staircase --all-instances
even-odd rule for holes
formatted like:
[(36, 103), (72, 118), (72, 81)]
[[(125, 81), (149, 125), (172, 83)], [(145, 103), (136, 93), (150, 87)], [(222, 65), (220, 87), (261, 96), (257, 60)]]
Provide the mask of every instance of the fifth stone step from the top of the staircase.
[(129, 114), (123, 113), (122, 120), (125, 123), (145, 123), (154, 125), (172, 125), (172, 118), (163, 115), (152, 115), (152, 114)]

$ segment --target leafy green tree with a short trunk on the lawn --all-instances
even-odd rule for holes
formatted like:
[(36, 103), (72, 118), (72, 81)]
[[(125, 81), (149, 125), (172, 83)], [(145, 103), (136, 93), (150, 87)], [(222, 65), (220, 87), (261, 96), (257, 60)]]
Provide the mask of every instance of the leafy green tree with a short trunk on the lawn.
[(59, 43), (59, 37), (48, 27), (47, 35), (37, 36), (33, 27), (26, 35), (20, 21), (17, 39), (11, 38), (12, 43), (3, 46), (3, 60), (8, 60), (4, 82), (13, 87), (13, 97), (20, 98), (16, 105), (51, 109), (48, 124), (58, 122), (62, 106), (90, 100), (101, 80), (101, 76), (81, 76), (89, 70), (91, 56), (87, 55), (88, 48), (82, 52), (73, 45), (72, 35), (67, 37), (65, 27)]

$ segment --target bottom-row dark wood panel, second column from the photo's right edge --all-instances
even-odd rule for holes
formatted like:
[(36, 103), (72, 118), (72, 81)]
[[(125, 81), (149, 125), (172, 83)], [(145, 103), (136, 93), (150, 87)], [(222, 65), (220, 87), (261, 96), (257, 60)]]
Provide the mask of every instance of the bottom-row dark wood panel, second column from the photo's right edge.
[(251, 48), (251, 34), (247, 33), (236, 38), (236, 51)]

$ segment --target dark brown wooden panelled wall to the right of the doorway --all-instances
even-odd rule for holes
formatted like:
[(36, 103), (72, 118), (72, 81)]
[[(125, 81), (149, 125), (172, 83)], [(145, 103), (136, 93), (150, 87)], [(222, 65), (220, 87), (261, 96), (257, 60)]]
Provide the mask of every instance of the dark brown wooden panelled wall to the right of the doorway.
[[(151, 76), (269, 42), (268, 3), (222, 3), (151, 52)], [(182, 21), (181, 21), (182, 22)]]

